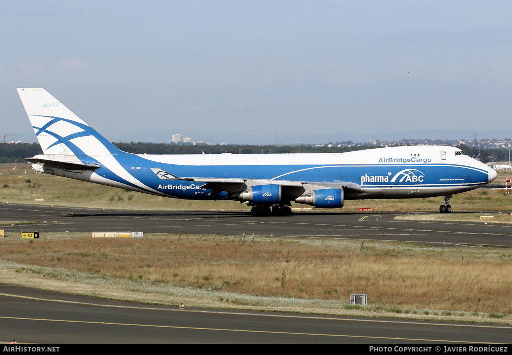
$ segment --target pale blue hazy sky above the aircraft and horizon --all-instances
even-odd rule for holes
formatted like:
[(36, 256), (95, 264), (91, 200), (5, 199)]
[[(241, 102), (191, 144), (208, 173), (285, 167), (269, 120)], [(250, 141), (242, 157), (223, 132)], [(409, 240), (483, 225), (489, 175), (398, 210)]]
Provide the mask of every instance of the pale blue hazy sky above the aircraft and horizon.
[(0, 134), (33, 136), (16, 87), (111, 140), (511, 123), (508, 1), (25, 0), (0, 29)]

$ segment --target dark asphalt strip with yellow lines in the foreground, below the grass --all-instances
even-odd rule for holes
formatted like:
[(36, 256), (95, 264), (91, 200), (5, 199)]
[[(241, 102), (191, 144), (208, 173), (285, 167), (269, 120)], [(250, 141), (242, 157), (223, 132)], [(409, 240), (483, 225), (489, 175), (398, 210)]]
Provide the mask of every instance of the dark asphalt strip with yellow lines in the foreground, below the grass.
[(0, 342), (502, 343), (512, 327), (138, 305), (0, 285)]

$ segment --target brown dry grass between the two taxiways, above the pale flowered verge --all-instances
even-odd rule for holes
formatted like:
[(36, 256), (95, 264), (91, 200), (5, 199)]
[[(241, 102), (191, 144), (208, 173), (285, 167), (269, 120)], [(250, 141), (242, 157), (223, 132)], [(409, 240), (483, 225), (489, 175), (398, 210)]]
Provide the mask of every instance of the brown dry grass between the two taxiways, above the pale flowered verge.
[[(2, 239), (0, 258), (102, 277), (402, 309), (512, 314), (512, 255), (484, 248), (228, 236)], [(23, 270), (20, 272), (24, 272)], [(51, 275), (50, 275), (51, 276)]]

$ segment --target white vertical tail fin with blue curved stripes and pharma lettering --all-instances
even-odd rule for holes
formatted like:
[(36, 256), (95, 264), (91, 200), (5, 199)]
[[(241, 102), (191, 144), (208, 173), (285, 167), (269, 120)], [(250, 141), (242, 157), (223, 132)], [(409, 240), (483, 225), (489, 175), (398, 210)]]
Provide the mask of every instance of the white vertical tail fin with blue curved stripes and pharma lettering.
[(45, 154), (77, 157), (122, 153), (44, 88), (17, 91)]

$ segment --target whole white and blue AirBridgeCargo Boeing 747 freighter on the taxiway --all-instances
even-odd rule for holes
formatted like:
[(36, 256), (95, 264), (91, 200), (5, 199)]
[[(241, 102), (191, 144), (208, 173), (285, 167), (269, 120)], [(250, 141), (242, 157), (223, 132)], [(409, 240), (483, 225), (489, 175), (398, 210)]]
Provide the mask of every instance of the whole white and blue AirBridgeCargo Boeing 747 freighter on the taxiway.
[(42, 88), (18, 88), (44, 154), (39, 172), (185, 199), (234, 199), (255, 215), (288, 214), (346, 199), (444, 196), (496, 179), (494, 169), (454, 147), (406, 146), (324, 154), (146, 155), (117, 149)]

